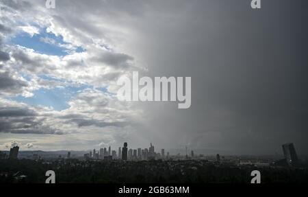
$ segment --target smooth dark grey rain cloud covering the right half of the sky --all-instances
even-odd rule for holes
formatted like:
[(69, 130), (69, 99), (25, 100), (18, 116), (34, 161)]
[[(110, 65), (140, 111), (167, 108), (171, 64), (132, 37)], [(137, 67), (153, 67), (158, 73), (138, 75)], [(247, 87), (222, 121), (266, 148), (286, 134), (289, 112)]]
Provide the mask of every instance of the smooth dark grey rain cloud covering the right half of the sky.
[(145, 104), (152, 132), (140, 135), (234, 154), (293, 141), (306, 154), (307, 1), (173, 3), (154, 3), (139, 41), (151, 76), (192, 77), (192, 106)]

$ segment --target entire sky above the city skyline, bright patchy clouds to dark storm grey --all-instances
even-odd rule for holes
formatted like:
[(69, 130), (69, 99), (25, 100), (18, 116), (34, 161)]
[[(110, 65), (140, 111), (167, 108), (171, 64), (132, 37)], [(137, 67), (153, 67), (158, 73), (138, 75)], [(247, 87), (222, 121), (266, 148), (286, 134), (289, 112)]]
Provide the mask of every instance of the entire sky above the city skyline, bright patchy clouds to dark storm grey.
[[(308, 154), (305, 0), (0, 0), (0, 150)], [(192, 103), (123, 102), (121, 76), (191, 77)]]

